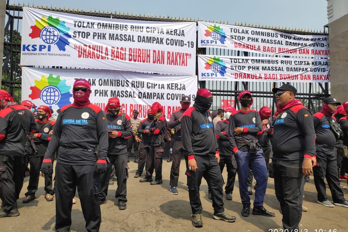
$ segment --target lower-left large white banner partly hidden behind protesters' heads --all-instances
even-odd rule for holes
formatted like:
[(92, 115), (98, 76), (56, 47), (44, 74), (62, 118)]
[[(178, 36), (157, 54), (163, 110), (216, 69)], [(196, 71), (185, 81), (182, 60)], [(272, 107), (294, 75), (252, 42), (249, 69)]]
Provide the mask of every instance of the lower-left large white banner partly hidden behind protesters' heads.
[(118, 97), (121, 110), (132, 117), (133, 110), (139, 118), (147, 118), (147, 110), (154, 102), (163, 106), (167, 119), (181, 108), (182, 95), (195, 99), (197, 76), (145, 74), (116, 70), (91, 69), (22, 69), (22, 100), (36, 106), (48, 105), (57, 110), (73, 102), (72, 86), (76, 79), (91, 83), (90, 102), (103, 110), (110, 97)]

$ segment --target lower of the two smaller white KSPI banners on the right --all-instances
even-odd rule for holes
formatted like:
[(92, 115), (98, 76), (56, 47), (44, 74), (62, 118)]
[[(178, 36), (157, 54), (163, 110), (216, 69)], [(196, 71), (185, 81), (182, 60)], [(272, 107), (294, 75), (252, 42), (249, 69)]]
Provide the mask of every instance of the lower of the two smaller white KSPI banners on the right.
[(330, 82), (329, 59), (198, 55), (198, 80)]

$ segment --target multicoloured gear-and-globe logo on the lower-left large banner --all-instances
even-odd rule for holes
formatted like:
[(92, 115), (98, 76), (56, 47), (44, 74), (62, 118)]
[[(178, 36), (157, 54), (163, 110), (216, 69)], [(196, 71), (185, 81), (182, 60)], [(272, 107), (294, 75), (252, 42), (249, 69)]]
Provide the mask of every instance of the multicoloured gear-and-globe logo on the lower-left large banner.
[(62, 108), (64, 105), (71, 104), (71, 87), (66, 85), (66, 80), (61, 80), (60, 76), (53, 77), (52, 74), (46, 78), (41, 76), (41, 80), (35, 80), (35, 85), (30, 87), (32, 100), (40, 98), (47, 105), (58, 105)]

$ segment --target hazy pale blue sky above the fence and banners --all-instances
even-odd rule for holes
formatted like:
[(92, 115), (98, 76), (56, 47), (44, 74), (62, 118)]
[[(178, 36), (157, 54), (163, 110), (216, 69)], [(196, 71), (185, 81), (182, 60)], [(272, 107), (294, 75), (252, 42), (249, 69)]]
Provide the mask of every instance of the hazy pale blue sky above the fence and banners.
[[(18, 1), (15, 1), (16, 3)], [(19, 1), (21, 2), (21, 1)], [(150, 15), (176, 15), (186, 17), (199, 17), (205, 19), (220, 19), (225, 22), (227, 20), (230, 24), (237, 22), (280, 25), (290, 27), (303, 27), (315, 30), (323, 30), (323, 26), (327, 24), (326, 16), (326, 0), (174, 0), (174, 1), (158, 1), (158, 0), (46, 0), (29, 1), (36, 6), (41, 3), (46, 6), (65, 6), (66, 8), (74, 7), (75, 9), (81, 7), (86, 11), (94, 8), (101, 10), (127, 11), (129, 14), (137, 12), (142, 15), (149, 13)], [(13, 3), (13, 0), (10, 0)], [(27, 1), (25, 1), (27, 4)], [(21, 2), (22, 4), (22, 2)]]

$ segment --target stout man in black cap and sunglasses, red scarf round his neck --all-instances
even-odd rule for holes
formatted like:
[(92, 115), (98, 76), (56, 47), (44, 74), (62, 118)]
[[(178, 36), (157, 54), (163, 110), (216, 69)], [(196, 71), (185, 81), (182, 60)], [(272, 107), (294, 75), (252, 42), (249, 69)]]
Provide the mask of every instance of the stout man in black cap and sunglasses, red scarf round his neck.
[(294, 231), (302, 217), (303, 176), (313, 173), (316, 163), (315, 130), (310, 111), (295, 99), (295, 87), (284, 84), (272, 91), (279, 105), (272, 123), (272, 173), (283, 227)]

